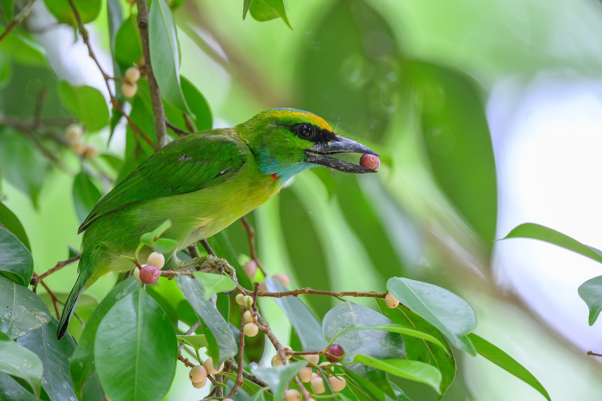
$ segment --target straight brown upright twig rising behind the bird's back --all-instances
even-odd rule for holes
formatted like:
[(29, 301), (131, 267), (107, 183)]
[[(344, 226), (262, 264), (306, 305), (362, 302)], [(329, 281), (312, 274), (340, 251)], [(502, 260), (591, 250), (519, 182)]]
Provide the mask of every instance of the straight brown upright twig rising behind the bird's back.
[[(71, 1), (71, 0), (70, 0)], [(165, 109), (161, 100), (161, 90), (155, 79), (151, 64), (151, 51), (149, 49), (149, 8), (147, 0), (137, 0), (138, 5), (138, 30), (142, 43), (142, 54), (144, 55), (144, 68), (149, 80), (151, 91), (152, 111), (155, 115), (155, 133), (157, 133), (157, 144), (159, 148), (167, 145), (167, 130), (165, 127)]]

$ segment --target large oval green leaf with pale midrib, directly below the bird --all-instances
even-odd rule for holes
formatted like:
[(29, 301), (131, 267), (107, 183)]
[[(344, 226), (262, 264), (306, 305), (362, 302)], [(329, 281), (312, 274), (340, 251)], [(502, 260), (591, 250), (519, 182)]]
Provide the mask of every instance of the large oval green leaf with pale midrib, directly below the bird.
[(172, 323), (143, 289), (117, 301), (98, 326), (96, 371), (111, 399), (160, 400), (172, 384), (177, 356)]

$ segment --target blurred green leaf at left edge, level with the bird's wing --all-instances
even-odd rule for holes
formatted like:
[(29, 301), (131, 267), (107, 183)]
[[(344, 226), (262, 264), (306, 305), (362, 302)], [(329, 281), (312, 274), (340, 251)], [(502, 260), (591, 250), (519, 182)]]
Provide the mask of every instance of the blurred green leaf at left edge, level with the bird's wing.
[(48, 174), (46, 162), (22, 133), (0, 127), (0, 143), (2, 178), (28, 195), (37, 206), (37, 197)]

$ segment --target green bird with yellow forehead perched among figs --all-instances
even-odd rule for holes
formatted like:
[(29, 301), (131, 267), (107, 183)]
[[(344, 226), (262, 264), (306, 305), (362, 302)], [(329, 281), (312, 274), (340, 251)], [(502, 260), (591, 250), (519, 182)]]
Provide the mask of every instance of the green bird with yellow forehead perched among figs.
[[(140, 236), (169, 219), (164, 233), (176, 250), (219, 233), (264, 204), (287, 180), (315, 165), (373, 173), (332, 155), (379, 156), (336, 135), (322, 118), (296, 109), (270, 109), (234, 128), (210, 129), (170, 142), (98, 201), (84, 232), (79, 276), (67, 298), (57, 337), (67, 331), (81, 293), (108, 272), (128, 271)], [(148, 256), (145, 247), (138, 256)], [(175, 268), (175, 251), (166, 266)]]

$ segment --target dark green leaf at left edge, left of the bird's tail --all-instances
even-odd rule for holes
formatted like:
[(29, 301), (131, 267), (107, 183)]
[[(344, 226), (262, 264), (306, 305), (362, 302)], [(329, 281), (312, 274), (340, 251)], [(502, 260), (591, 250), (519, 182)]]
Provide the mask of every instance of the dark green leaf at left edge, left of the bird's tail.
[(0, 271), (17, 283), (28, 286), (34, 271), (34, 260), (29, 249), (3, 227), (0, 227)]

